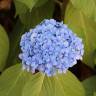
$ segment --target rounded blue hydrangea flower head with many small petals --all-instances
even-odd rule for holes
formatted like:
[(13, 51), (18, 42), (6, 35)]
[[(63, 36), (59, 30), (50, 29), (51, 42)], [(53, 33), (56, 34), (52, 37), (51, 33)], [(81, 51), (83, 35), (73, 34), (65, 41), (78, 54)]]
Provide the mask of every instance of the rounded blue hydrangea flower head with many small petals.
[(84, 54), (82, 39), (54, 19), (45, 19), (22, 35), (20, 46), (23, 68), (32, 73), (38, 70), (47, 76), (65, 73)]

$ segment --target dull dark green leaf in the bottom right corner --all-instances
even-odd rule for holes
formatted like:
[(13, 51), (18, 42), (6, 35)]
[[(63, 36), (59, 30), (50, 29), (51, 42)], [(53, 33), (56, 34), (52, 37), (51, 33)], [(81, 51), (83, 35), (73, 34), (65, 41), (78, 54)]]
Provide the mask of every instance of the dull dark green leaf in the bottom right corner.
[(86, 96), (93, 96), (96, 92), (96, 76), (90, 77), (83, 81), (86, 90)]

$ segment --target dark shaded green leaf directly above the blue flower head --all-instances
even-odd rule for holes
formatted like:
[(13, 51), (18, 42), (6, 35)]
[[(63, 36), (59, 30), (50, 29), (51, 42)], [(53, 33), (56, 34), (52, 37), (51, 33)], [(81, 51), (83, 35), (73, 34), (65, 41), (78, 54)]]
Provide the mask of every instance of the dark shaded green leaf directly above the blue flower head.
[[(50, 1), (50, 2), (49, 2)], [(49, 0), (41, 7), (35, 7), (31, 12), (20, 15), (21, 22), (29, 28), (36, 26), (44, 19), (52, 18), (54, 2)]]

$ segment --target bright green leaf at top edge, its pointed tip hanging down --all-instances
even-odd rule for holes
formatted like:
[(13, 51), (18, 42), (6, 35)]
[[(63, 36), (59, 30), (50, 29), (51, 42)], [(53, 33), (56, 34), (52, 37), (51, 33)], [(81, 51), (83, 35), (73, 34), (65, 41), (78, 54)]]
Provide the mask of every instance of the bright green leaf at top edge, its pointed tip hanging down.
[(46, 1), (48, 0), (15, 0), (15, 2), (25, 4), (30, 9), (30, 11), (32, 10), (33, 7), (39, 7), (43, 5)]

